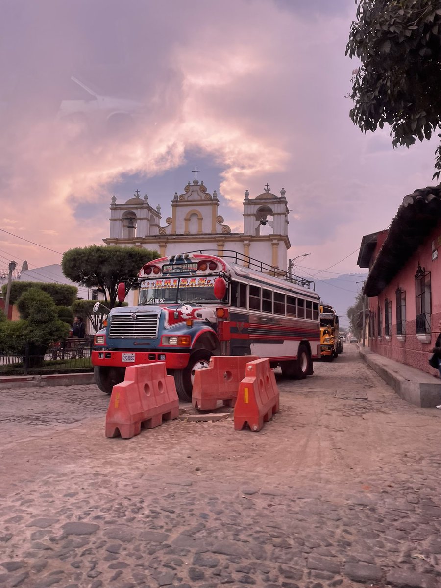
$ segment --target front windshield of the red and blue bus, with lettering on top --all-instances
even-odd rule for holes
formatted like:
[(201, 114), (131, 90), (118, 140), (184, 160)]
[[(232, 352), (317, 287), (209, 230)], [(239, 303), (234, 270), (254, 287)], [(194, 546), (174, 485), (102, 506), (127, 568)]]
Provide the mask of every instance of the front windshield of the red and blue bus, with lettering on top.
[(178, 302), (219, 303), (213, 285), (215, 277), (160, 278), (143, 280), (139, 305), (176, 304)]

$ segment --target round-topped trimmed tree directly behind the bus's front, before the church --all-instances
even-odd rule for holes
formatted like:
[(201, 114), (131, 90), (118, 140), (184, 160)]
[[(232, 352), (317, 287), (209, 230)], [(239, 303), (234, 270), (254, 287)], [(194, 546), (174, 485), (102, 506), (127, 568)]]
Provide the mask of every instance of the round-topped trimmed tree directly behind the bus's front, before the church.
[(106, 306), (113, 308), (121, 306), (116, 300), (118, 283), (126, 281), (127, 293), (131, 287), (127, 278), (135, 278), (145, 263), (158, 256), (157, 251), (138, 247), (89, 245), (66, 251), (61, 267), (72, 282), (101, 288)]

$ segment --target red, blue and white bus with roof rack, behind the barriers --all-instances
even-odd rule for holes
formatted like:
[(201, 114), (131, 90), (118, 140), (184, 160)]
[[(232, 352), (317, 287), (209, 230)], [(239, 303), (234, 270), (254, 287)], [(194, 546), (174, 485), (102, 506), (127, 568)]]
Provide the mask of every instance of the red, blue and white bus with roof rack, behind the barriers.
[[(320, 357), (319, 295), (309, 280), (236, 252), (190, 252), (139, 272), (136, 306), (113, 308), (95, 335), (95, 381), (110, 394), (125, 368), (165, 362), (190, 400), (195, 370), (212, 355), (256, 355), (286, 377), (312, 374)], [(121, 285), (123, 298), (125, 285)]]

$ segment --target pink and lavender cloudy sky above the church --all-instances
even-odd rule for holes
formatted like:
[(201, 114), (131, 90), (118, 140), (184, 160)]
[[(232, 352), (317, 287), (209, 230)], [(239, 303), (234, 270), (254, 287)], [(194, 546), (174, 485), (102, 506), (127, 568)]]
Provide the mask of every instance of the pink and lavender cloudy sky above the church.
[[(353, 0), (6, 0), (0, 229), (61, 253), (100, 243), (113, 193), (123, 202), (136, 182), (165, 219), (202, 162), (233, 230), (245, 189), (255, 196), (269, 182), (286, 189), (289, 257), (310, 253), (299, 273), (331, 277), (318, 270), (346, 256), (332, 272), (360, 271), (362, 235), (432, 183), (436, 145), (393, 151), (386, 129), (364, 136), (350, 121), (355, 9)], [(85, 116), (97, 101), (71, 76), (131, 118)], [(0, 231), (0, 270), (12, 258), (61, 261)]]

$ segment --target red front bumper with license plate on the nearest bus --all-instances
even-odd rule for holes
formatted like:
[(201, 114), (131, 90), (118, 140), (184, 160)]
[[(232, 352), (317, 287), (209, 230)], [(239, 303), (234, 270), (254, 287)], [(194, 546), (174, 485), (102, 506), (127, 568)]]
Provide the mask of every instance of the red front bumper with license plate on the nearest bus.
[(92, 351), (92, 365), (126, 368), (140, 363), (164, 362), (166, 369), (183, 369), (187, 366), (189, 353), (158, 353), (143, 351)]

